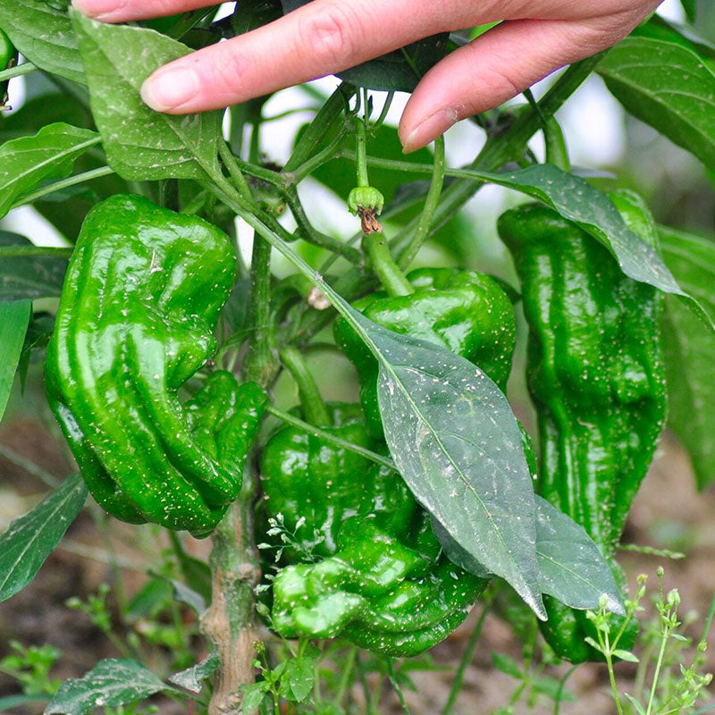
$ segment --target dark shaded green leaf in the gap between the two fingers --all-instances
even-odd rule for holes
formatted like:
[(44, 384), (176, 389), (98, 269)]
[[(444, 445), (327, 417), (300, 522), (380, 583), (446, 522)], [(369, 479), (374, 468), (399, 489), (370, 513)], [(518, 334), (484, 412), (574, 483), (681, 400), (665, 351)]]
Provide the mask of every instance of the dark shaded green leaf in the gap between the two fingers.
[[(281, 0), (283, 11), (290, 13), (310, 0)], [(338, 72), (341, 80), (358, 87), (411, 92), (434, 64), (447, 54), (449, 32), (423, 38), (399, 50)]]

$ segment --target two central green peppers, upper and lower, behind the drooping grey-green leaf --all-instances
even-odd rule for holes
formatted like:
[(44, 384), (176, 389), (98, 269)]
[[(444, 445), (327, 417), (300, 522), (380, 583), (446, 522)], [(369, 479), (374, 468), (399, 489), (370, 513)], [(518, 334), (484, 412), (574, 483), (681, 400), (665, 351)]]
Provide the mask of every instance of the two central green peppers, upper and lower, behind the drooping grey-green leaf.
[[(408, 273), (400, 290), (412, 292), (375, 293), (356, 307), (375, 323), (471, 359), (506, 387), (515, 324), (497, 282), (422, 269)], [(322, 426), (384, 452), (374, 357), (345, 321), (334, 332), (357, 367), (361, 405), (329, 406)], [(375, 652), (416, 655), (449, 635), (484, 591), (488, 579), (450, 562), (429, 515), (391, 469), (288, 427), (266, 444), (261, 474), (268, 516), (280, 514), (298, 545), (286, 548), (290, 566), (273, 582), (281, 635), (340, 635)]]

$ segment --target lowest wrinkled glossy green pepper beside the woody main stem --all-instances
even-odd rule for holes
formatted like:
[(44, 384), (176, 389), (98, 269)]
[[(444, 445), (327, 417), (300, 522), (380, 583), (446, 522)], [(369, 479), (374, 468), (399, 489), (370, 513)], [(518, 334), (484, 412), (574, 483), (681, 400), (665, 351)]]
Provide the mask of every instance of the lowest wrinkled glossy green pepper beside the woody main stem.
[[(342, 439), (383, 450), (358, 405), (327, 406)], [(286, 547), (273, 581), (273, 627), (284, 637), (340, 636), (395, 656), (439, 643), (467, 616), (486, 581), (442, 556), (429, 519), (396, 472), (286, 427), (261, 458), (268, 517)], [(307, 563), (299, 563), (308, 560)]]

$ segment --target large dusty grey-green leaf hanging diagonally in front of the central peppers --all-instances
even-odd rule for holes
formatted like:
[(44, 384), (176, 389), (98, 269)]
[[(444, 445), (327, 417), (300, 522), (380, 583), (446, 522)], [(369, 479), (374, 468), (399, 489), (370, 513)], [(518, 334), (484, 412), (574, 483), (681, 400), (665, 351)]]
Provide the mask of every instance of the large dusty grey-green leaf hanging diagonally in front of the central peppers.
[(392, 458), (416, 499), (467, 553), (545, 618), (534, 489), (509, 402), (450, 350), (384, 329), (342, 301), (380, 364)]

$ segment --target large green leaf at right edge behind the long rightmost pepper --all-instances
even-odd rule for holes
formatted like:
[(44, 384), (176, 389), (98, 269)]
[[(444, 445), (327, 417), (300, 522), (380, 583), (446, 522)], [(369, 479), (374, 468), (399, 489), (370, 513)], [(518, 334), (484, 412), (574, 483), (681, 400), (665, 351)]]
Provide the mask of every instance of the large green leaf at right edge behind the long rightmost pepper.
[[(659, 226), (660, 249), (677, 281), (715, 317), (715, 242)], [(715, 481), (715, 336), (668, 297), (662, 325), (668, 424), (690, 454), (698, 489)]]

